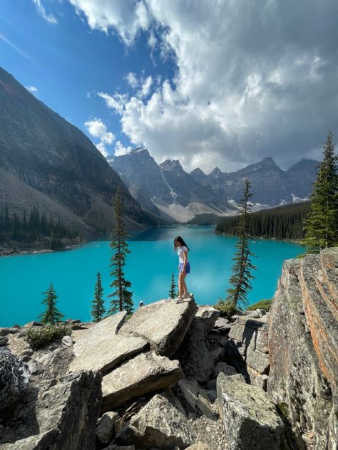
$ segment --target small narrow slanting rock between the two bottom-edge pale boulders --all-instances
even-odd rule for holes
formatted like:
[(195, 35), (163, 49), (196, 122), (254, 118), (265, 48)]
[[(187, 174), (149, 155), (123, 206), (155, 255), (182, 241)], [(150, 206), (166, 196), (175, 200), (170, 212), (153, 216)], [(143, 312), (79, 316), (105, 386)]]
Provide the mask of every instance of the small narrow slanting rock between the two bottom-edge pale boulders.
[(212, 411), (212, 404), (209, 400), (207, 392), (200, 387), (196, 380), (188, 380), (184, 378), (178, 382), (180, 392), (182, 392), (185, 401), (198, 414), (202, 414), (209, 419), (215, 419)]

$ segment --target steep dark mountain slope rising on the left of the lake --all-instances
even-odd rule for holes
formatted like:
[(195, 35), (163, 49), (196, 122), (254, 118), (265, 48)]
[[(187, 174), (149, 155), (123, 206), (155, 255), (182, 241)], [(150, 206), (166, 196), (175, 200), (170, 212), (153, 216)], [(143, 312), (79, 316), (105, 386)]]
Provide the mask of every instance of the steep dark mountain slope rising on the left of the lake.
[(38, 206), (91, 234), (113, 226), (119, 187), (127, 225), (155, 224), (91, 140), (2, 68), (0, 130), (0, 208), (22, 216)]

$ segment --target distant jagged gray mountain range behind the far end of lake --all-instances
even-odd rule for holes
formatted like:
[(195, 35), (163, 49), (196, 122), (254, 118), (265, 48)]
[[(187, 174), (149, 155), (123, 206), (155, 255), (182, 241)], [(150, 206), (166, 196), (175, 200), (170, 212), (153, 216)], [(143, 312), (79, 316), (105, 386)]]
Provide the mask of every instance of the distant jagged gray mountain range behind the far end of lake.
[(145, 209), (163, 219), (181, 222), (198, 214), (237, 214), (245, 178), (251, 182), (254, 209), (307, 200), (318, 164), (302, 159), (282, 170), (267, 157), (237, 172), (222, 172), (215, 167), (210, 174), (200, 168), (188, 173), (177, 159), (157, 164), (143, 147), (126, 155), (109, 155), (107, 160)]

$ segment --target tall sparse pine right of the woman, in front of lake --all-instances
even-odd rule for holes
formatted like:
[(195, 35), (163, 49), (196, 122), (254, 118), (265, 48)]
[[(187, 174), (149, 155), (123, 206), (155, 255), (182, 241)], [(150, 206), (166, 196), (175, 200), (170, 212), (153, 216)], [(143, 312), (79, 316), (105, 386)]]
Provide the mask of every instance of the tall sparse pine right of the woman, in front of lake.
[(235, 252), (234, 258), (232, 258), (235, 263), (232, 266), (232, 276), (229, 281), (232, 288), (227, 290), (228, 295), (226, 299), (228, 303), (232, 303), (235, 306), (239, 305), (241, 308), (247, 306), (247, 293), (252, 289), (250, 280), (255, 278), (251, 273), (255, 269), (255, 266), (250, 261), (250, 256), (254, 256), (254, 254), (250, 251), (248, 234), (250, 216), (249, 200), (251, 197), (250, 182), (248, 179), (245, 179), (244, 196), (240, 200), (239, 205), (242, 214), (240, 215), (240, 222), (237, 229), (238, 241), (235, 244), (237, 251)]

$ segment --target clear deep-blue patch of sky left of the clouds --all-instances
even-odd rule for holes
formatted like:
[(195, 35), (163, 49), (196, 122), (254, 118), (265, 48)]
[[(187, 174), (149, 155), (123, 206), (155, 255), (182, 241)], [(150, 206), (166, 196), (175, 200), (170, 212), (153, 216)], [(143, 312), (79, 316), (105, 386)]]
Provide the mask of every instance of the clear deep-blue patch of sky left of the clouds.
[[(130, 145), (128, 136), (121, 132), (120, 117), (108, 110), (96, 93), (132, 91), (126, 80), (130, 72), (144, 77), (155, 72), (172, 78), (173, 61), (163, 63), (156, 58), (156, 51), (152, 56), (145, 33), (127, 47), (117, 33), (92, 30), (67, 1), (45, 4), (57, 23), (43, 19), (31, 0), (0, 1), (1, 66), (25, 87), (36, 88), (39, 100), (94, 142), (98, 139), (84, 124), (98, 117), (116, 140)], [(106, 147), (113, 153), (114, 145)]]

